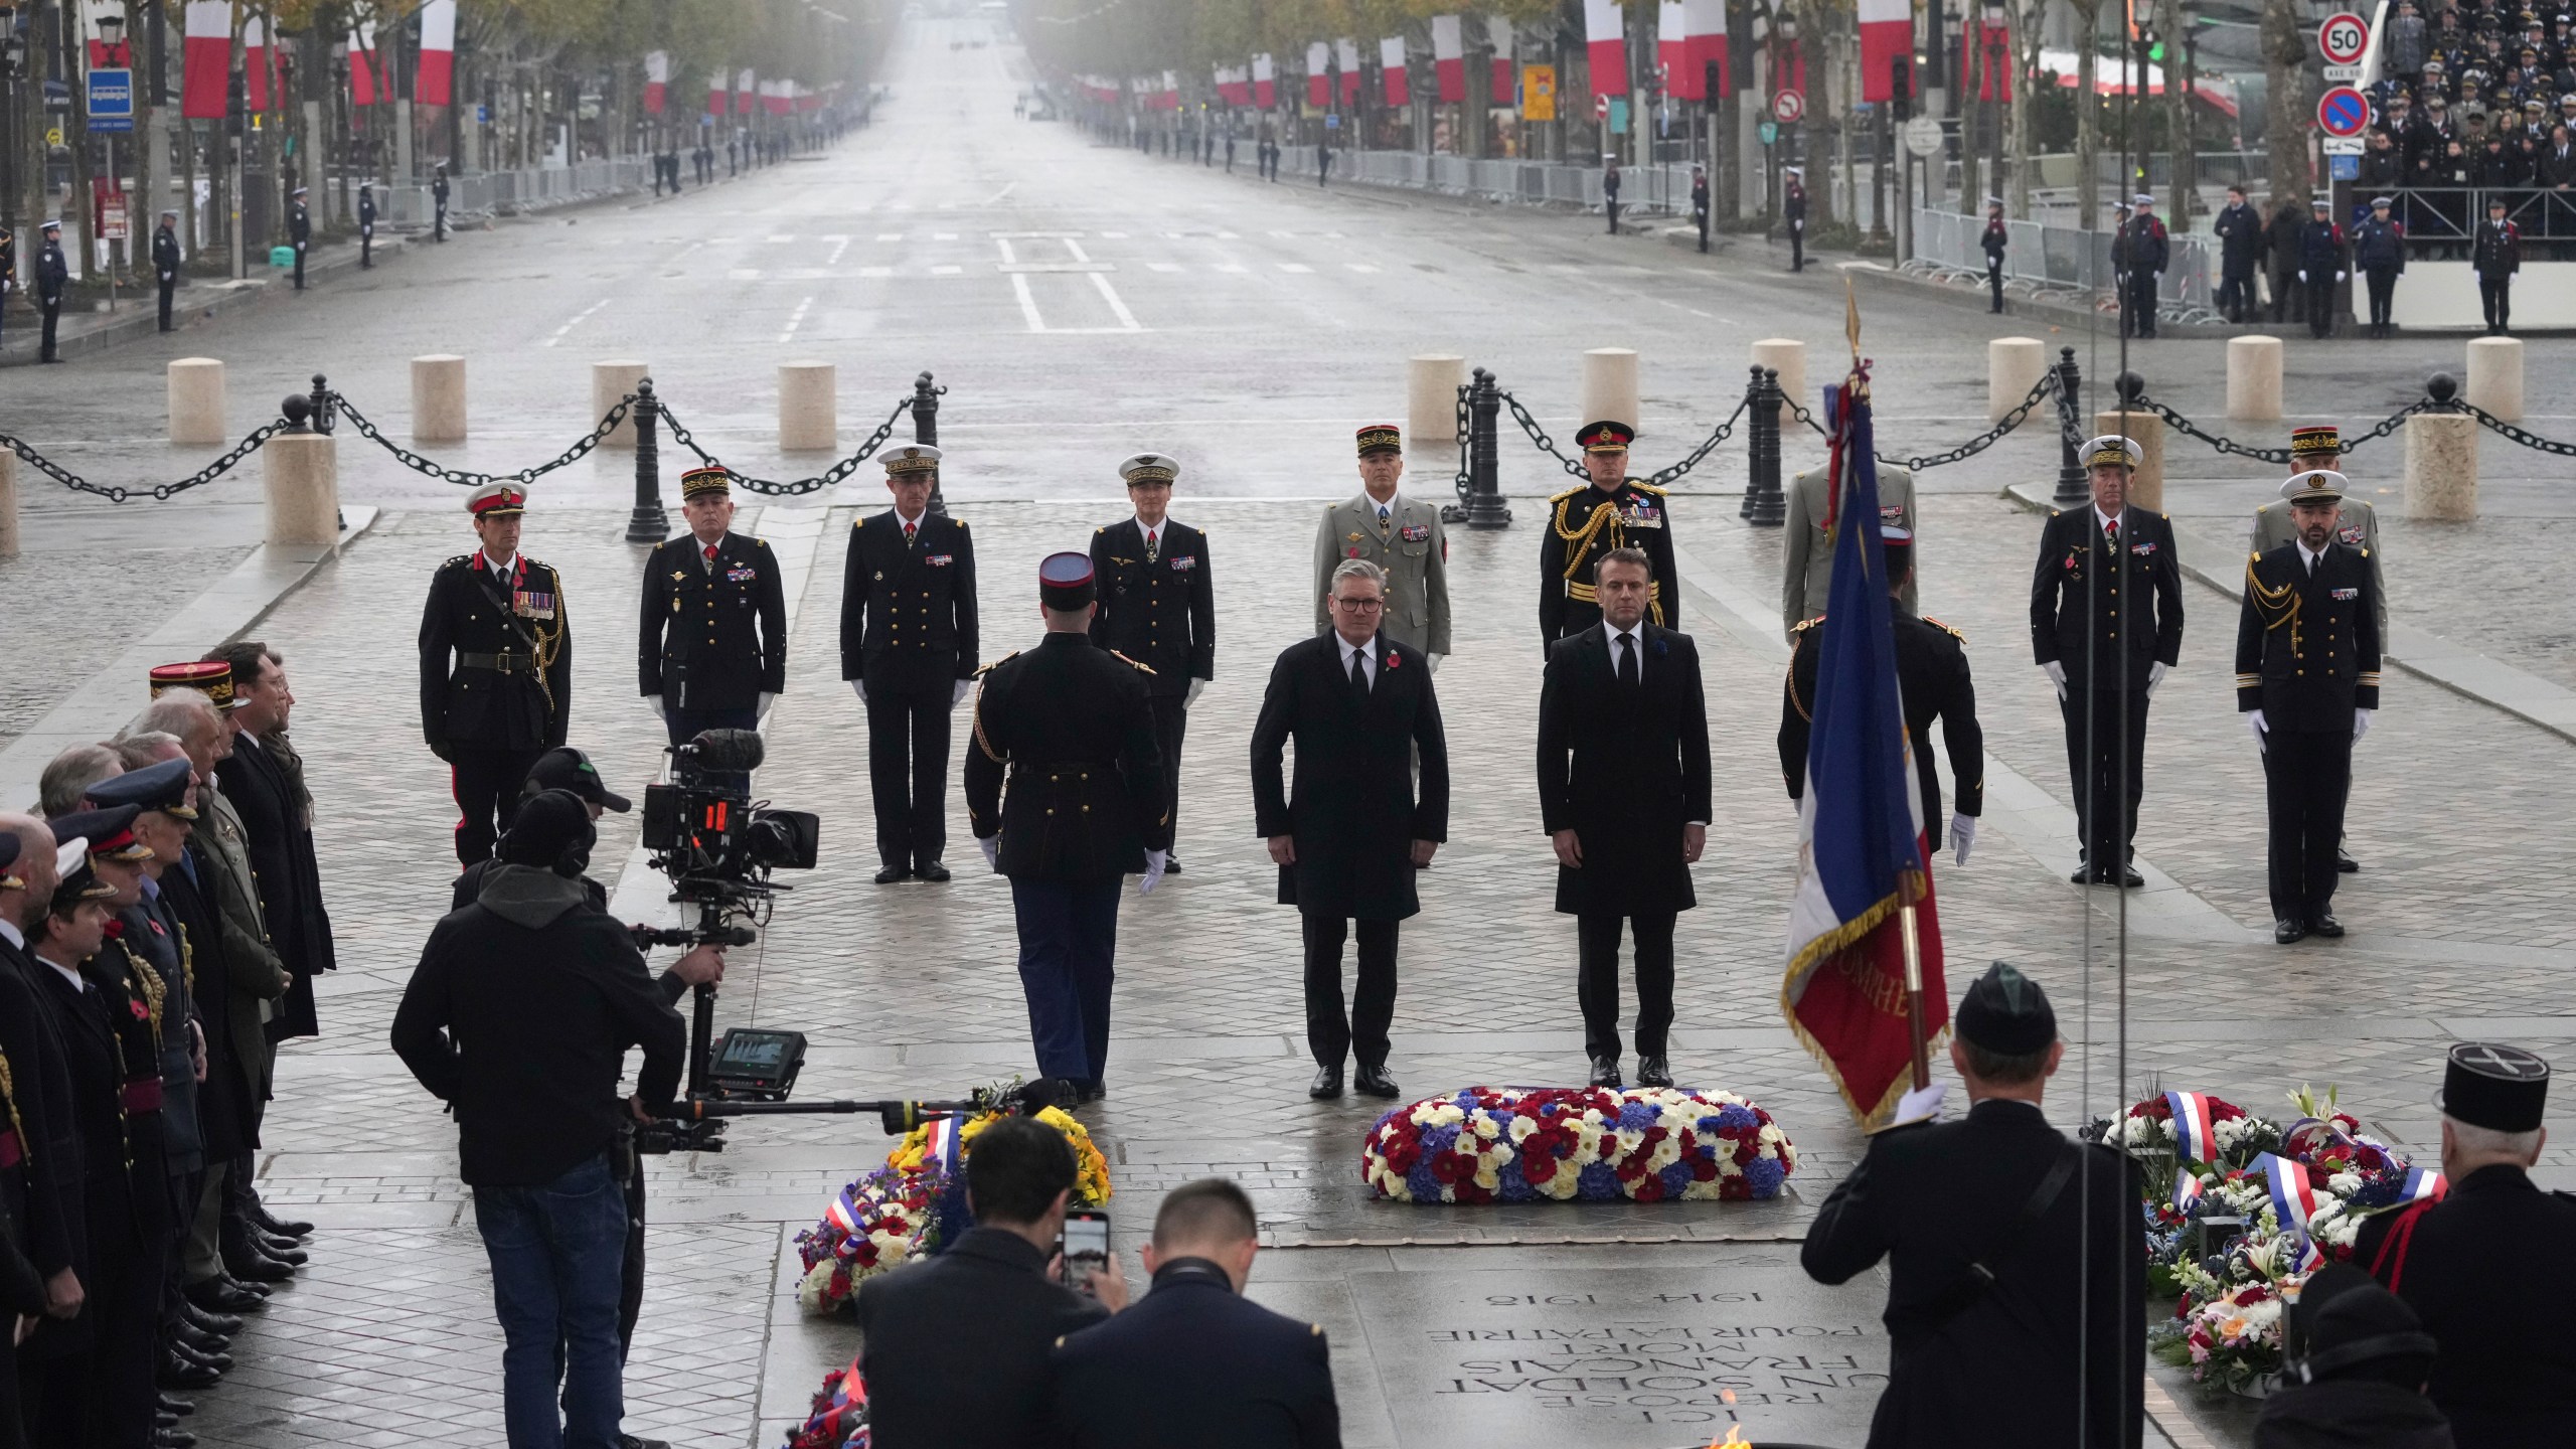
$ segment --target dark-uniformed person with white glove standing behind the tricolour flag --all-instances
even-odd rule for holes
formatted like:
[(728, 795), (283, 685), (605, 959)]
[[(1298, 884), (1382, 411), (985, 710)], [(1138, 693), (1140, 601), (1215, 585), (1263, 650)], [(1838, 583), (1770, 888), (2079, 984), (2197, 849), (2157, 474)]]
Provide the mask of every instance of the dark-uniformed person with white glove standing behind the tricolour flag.
[[(1940, 768), (1932, 763), (1932, 722), (1940, 722), (1950, 748), (1950, 779), (1958, 817), (1950, 820), (1950, 851), (1968, 864), (1976, 846), (1976, 820), (1986, 812), (1986, 732), (1976, 724), (1976, 683), (1968, 678), (1968, 637), (1904, 606), (1914, 583), (1914, 539), (1883, 526), (1878, 547), (1888, 559), (1888, 606), (1896, 632), (1896, 683), (1906, 706), (1906, 740), (1914, 743), (1914, 779), (1924, 799), (1924, 841), (1942, 843)], [(1824, 657), (1824, 614), (1798, 624), (1798, 650), (1788, 660), (1788, 688), (1780, 701), (1780, 773), (1788, 797), (1806, 797), (1806, 743), (1816, 719), (1816, 663)]]

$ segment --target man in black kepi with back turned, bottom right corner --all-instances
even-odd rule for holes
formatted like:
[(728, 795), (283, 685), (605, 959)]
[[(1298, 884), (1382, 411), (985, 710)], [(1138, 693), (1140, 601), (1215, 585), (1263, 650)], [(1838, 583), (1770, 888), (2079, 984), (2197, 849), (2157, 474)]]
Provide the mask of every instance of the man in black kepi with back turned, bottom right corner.
[(2576, 1196), (2540, 1191), (2550, 1065), (2460, 1042), (2442, 1067), (2439, 1199), (2362, 1222), (2352, 1261), (2439, 1343), (2427, 1392), (2460, 1449), (2543, 1449), (2576, 1423)]

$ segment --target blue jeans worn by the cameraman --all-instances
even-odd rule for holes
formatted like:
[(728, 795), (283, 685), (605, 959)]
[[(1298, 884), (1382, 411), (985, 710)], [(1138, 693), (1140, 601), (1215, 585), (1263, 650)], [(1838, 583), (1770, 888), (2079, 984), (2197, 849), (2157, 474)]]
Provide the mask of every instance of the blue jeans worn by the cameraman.
[(492, 1256), (510, 1449), (616, 1449), (626, 1189), (608, 1158), (536, 1189), (474, 1189), (474, 1227)]

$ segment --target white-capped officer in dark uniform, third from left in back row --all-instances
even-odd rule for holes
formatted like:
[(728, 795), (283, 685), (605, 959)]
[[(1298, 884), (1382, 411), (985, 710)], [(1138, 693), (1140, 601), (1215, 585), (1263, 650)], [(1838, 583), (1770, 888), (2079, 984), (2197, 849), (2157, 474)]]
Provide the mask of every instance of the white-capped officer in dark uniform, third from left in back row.
[(868, 706), (876, 884), (948, 879), (948, 717), (974, 688), (974, 539), (930, 513), (940, 451), (886, 449), (894, 508), (850, 526), (840, 593), (840, 678)]

